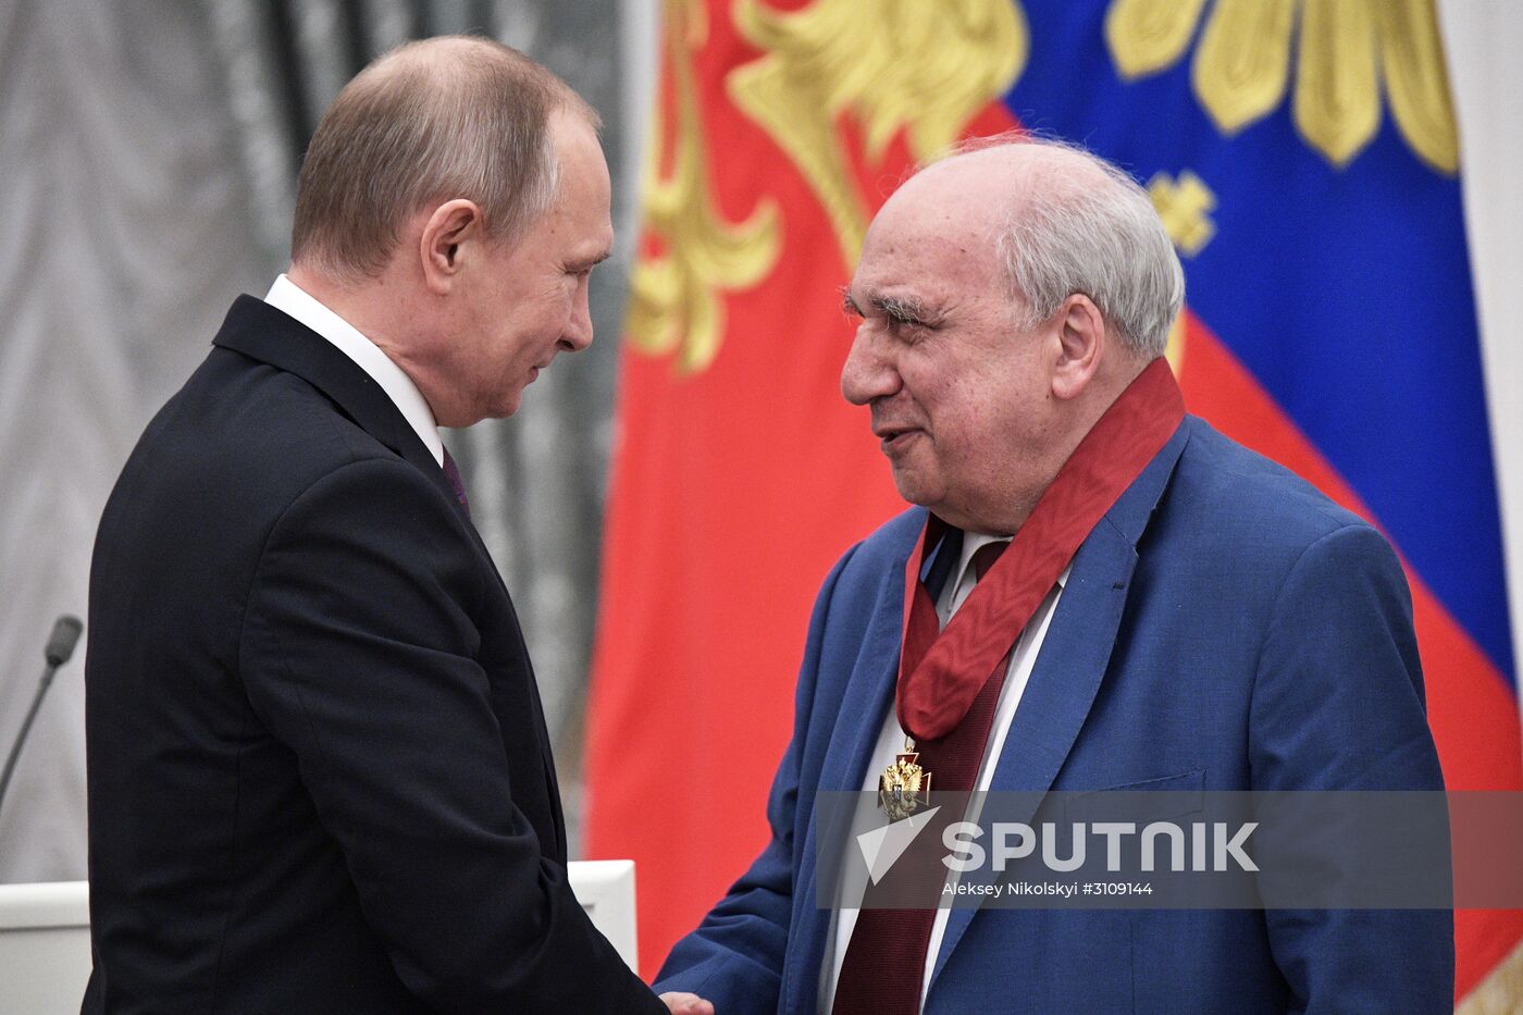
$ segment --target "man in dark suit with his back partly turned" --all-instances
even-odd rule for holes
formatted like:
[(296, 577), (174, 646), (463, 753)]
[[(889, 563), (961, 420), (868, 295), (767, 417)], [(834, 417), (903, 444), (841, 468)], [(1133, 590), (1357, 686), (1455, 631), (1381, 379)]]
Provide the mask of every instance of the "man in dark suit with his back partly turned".
[(667, 1010), (567, 884), (533, 668), (437, 431), (591, 343), (595, 131), (466, 38), (323, 117), (289, 273), (101, 521), (85, 1012)]

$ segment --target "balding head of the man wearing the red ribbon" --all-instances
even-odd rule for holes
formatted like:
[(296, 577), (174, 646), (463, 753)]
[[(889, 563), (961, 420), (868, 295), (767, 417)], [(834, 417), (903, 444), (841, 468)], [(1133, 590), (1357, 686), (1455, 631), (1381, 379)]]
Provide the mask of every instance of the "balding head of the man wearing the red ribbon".
[(1001, 139), (911, 177), (868, 227), (841, 372), (905, 500), (1011, 533), (1164, 351), (1182, 280), (1148, 200), (1083, 152)]

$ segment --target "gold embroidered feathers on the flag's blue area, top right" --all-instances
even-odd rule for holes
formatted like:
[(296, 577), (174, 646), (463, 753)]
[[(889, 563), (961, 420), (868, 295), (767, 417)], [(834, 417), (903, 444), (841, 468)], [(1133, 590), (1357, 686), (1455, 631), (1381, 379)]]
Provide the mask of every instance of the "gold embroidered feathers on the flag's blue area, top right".
[[(1296, 18), (1301, 30), (1296, 32)], [(1307, 143), (1346, 166), (1380, 131), (1381, 85), (1407, 145), (1459, 169), (1459, 137), (1433, 0), (1112, 0), (1106, 44), (1125, 79), (1167, 70), (1189, 50), (1191, 85), (1223, 134), (1285, 99), (1298, 38), (1293, 117)]]

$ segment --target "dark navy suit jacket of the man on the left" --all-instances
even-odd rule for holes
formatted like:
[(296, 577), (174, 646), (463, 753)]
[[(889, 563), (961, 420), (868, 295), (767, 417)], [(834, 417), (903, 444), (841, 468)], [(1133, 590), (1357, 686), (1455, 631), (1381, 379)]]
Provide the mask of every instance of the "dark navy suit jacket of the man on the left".
[(664, 1012), (567, 885), (507, 590), (417, 434), (241, 297), (90, 582), (85, 1012)]

